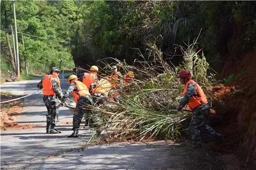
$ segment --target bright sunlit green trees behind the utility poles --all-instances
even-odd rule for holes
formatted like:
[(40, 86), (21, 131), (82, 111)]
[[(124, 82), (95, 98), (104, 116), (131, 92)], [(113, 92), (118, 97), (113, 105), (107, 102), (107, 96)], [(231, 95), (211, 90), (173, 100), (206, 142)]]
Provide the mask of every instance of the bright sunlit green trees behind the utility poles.
[[(51, 66), (74, 67), (69, 41), (74, 34), (73, 27), (77, 19), (78, 8), (75, 3), (73, 1), (16, 1), (15, 7), (18, 32), (37, 36), (24, 35), (24, 51), (22, 35), (18, 33), (22, 71), (25, 71), (25, 57), (31, 74), (38, 71), (48, 72)], [(14, 26), (11, 2), (2, 2), (1, 9), (3, 9), (1, 21), (5, 23), (4, 26), (1, 25), (1, 31), (6, 31), (9, 25)], [(4, 11), (7, 12), (7, 19)], [(1, 40), (4, 40), (3, 50), (7, 53), (7, 44), (2, 34)], [(60, 62), (61, 65), (59, 65)]]

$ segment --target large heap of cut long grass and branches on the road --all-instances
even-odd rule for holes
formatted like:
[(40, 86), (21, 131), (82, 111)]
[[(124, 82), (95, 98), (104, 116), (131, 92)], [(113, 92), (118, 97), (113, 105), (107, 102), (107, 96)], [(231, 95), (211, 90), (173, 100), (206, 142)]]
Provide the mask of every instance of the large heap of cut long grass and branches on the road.
[[(155, 44), (149, 45), (148, 57), (141, 55), (144, 61), (135, 61), (136, 67), (116, 60), (115, 64), (126, 72), (134, 71), (136, 80), (130, 85), (130, 92), (119, 91), (120, 104), (113, 102), (93, 108), (95, 127), (106, 130), (116, 140), (177, 139), (185, 134), (191, 114), (176, 110), (184, 88), (177, 78), (178, 72), (190, 68), (193, 77), (204, 84), (208, 96), (211, 84), (208, 63), (203, 55), (199, 56), (196, 43), (181, 48), (185, 62), (178, 67), (170, 67)], [(110, 66), (106, 65), (108, 69)]]

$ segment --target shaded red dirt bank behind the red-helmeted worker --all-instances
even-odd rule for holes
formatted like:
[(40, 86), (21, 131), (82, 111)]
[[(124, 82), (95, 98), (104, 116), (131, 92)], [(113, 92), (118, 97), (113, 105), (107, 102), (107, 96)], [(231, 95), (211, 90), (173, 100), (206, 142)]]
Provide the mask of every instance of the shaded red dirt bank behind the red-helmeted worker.
[[(241, 74), (241, 72), (243, 74)], [(256, 51), (242, 57), (233, 70), (239, 75), (228, 85), (218, 85), (215, 98), (218, 111), (217, 128), (225, 135), (222, 147), (236, 152), (243, 166), (256, 166)]]

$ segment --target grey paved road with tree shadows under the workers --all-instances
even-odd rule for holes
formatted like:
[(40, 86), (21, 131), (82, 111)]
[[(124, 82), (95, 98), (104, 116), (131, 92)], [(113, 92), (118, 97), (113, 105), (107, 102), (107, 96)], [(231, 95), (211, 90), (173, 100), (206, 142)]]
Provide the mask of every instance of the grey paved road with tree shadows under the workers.
[[(40, 79), (10, 82), (0, 87), (3, 91), (24, 95), (37, 91)], [(67, 79), (61, 78), (61, 88), (67, 87)], [(204, 156), (205, 152), (194, 152), (172, 141), (88, 145), (92, 132), (84, 127), (79, 131), (81, 137), (67, 138), (72, 133), (72, 114), (67, 108), (59, 111), (56, 128), (62, 133), (46, 134), (46, 112), (42, 94), (25, 98), (23, 111), (16, 121), (37, 127), (1, 132), (1, 169), (216, 169), (215, 163), (207, 162), (207, 157), (210, 160), (212, 157)], [(196, 160), (191, 154), (203, 155), (206, 161)]]

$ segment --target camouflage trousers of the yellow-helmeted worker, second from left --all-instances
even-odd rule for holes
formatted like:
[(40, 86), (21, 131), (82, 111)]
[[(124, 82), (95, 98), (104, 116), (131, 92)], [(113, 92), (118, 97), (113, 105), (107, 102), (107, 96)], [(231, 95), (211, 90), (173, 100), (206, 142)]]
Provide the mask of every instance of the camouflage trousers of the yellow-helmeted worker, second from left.
[(92, 98), (89, 95), (81, 96), (79, 98), (76, 105), (76, 111), (73, 115), (73, 131), (79, 130), (83, 115), (86, 120), (88, 119), (87, 117), (90, 111), (86, 107), (87, 105), (92, 105), (92, 103)]

